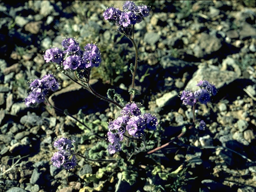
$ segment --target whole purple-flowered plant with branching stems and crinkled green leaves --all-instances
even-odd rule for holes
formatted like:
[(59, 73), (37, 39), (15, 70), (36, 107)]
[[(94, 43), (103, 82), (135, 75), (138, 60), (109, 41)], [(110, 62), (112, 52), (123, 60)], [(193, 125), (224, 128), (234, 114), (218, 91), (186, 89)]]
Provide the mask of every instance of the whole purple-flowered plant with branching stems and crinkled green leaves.
[[(132, 82), (128, 90), (130, 93), (129, 101), (124, 100), (122, 95), (118, 94), (114, 89), (108, 90), (106, 93), (107, 97), (102, 96), (90, 85), (92, 69), (98, 68), (102, 62), (102, 54), (97, 44), (88, 43), (84, 46), (84, 50), (82, 50), (74, 38), (66, 38), (62, 41), (62, 49), (50, 48), (46, 50), (44, 55), (46, 62), (54, 63), (56, 68), (74, 83), (79, 84), (94, 96), (114, 105), (119, 110), (119, 116), (115, 119), (108, 122), (101, 122), (100, 120), (90, 122), (86, 121), (81, 110), (77, 116), (73, 116), (68, 113), (67, 109), (60, 109), (58, 106), (54, 106), (48, 100), (47, 95), (57, 91), (60, 86), (52, 74), (44, 75), (30, 84), (31, 92), (25, 99), (27, 106), (36, 106), (37, 104), (44, 103), (57, 112), (70, 116), (76, 121), (76, 125), (85, 131), (84, 136), (81, 138), (81, 144), (85, 141), (93, 140), (91, 146), (83, 154), (76, 148), (74, 140), (59, 137), (53, 143), (53, 146), (58, 150), (51, 159), (54, 166), (58, 168), (63, 166), (66, 170), (71, 170), (77, 166), (78, 158), (84, 158), (87, 162), (94, 164), (94, 166), (99, 166), (94, 174), (83, 176), (86, 182), (98, 182), (98, 187), (90, 188), (86, 186), (83, 190), (102, 190), (106, 181), (111, 184), (116, 180), (117, 191), (120, 182), (135, 185), (136, 182), (142, 181), (140, 174), (143, 173), (150, 173), (152, 178), (154, 178), (150, 181), (154, 191), (162, 191), (168, 188), (176, 190), (178, 186), (184, 184), (181, 180), (184, 180), (186, 169), (179, 166), (176, 170), (172, 170), (171, 168), (165, 168), (160, 163), (155, 163), (152, 166), (145, 166), (144, 164), (147, 164), (148, 160), (151, 164), (156, 162), (160, 155), (153, 156), (153, 154), (184, 136), (187, 129), (198, 128), (199, 130), (204, 130), (206, 128), (204, 120), (197, 121), (195, 115), (197, 104), (206, 105), (210, 102), (211, 97), (217, 94), (216, 87), (206, 80), (198, 82), (198, 90), (194, 92), (184, 90), (180, 94), (183, 104), (192, 107), (193, 122), (189, 126), (184, 125), (181, 133), (176, 138), (161, 146), (160, 137), (163, 128), (160, 125), (160, 119), (155, 114), (145, 112), (143, 104), (133, 102), (134, 97), (140, 94), (139, 90), (135, 88), (135, 76), (138, 68), (138, 47), (134, 39), (134, 25), (139, 24), (149, 14), (150, 8), (146, 5), (141, 4), (137, 6), (131, 1), (124, 2), (123, 10), (112, 6), (103, 13), (104, 19), (115, 24), (118, 32), (128, 38), (134, 46), (135, 61), (134, 64), (129, 66), (129, 70), (132, 73)], [(124, 58), (121, 56), (115, 55), (114, 58), (118, 58), (122, 62), (119, 64), (120, 66), (125, 64)], [(107, 60), (105, 70), (107, 70), (108, 65), (115, 61), (113, 58), (108, 59), (104, 57), (105, 59)], [(114, 66), (111, 65), (111, 67)], [(75, 78), (72, 78), (70, 73), (73, 73)], [(148, 71), (144, 76), (140, 77), (140, 82), (143, 82), (146, 76), (148, 76)], [(110, 76), (106, 78), (110, 78)], [(99, 131), (100, 127), (101, 130)], [(170, 178), (177, 178), (177, 180), (173, 184), (162, 186), (154, 184), (154, 180), (158, 178), (164, 181)]]

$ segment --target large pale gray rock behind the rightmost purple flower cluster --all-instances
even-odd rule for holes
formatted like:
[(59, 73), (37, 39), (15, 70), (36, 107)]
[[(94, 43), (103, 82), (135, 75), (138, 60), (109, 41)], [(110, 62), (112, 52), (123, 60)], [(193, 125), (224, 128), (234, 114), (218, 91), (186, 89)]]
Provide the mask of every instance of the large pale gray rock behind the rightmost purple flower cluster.
[(230, 84), (238, 78), (238, 74), (233, 71), (221, 71), (217, 66), (198, 66), (198, 70), (193, 74), (192, 79), (186, 85), (186, 89), (197, 90), (200, 80), (208, 80), (216, 88), (221, 88), (225, 84)]

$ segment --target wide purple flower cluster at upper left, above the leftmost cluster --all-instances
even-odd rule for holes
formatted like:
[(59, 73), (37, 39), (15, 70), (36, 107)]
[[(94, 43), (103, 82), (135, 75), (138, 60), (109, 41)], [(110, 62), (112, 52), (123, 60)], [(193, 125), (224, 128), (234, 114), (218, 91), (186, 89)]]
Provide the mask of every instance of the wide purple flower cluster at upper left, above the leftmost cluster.
[(101, 62), (100, 50), (95, 44), (87, 44), (84, 51), (73, 38), (64, 39), (61, 43), (62, 50), (51, 48), (46, 50), (44, 60), (62, 66), (64, 70), (77, 68), (98, 67)]

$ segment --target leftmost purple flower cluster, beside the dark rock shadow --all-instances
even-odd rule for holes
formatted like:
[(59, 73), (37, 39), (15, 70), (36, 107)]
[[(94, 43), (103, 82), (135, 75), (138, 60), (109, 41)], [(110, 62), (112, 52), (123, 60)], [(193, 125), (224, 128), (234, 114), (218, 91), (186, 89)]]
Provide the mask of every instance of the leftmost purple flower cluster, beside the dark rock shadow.
[(26, 106), (44, 102), (46, 94), (48, 94), (50, 90), (58, 90), (59, 84), (52, 74), (48, 74), (43, 76), (42, 79), (35, 79), (30, 84), (29, 88), (31, 88), (32, 91), (28, 97), (25, 98)]

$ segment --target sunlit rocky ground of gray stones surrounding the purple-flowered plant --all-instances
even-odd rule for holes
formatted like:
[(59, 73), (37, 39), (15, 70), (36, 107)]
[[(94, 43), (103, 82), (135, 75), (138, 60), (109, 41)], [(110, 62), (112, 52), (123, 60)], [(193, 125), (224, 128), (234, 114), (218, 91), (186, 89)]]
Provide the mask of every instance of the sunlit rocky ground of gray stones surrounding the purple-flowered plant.
[[(115, 88), (128, 100), (128, 66), (134, 61), (134, 48), (103, 19), (105, 7), (112, 4), (122, 6), (121, 1), (0, 2), (0, 42), (4, 42), (0, 44), (0, 191), (115, 191), (117, 172), (111, 185), (103, 186), (84, 179), (85, 174), (95, 174), (98, 165), (79, 159), (71, 172), (52, 166), (52, 142), (57, 135), (76, 140), (81, 152), (91, 143), (81, 139), (84, 131), (70, 118), (53, 114), (44, 105), (28, 108), (23, 102), (28, 81), (54, 73), (61, 85), (51, 96), (55, 106), (71, 114), (81, 110), (88, 121), (114, 118), (116, 108), (74, 86), (42, 56), (50, 46), (61, 48), (65, 36), (76, 37), (82, 47), (97, 42), (102, 64), (92, 71), (94, 89), (106, 95), (108, 88)], [(178, 176), (165, 181), (164, 189), (157, 184), (152, 188), (145, 177), (137, 178), (143, 182), (131, 188), (122, 182), (116, 191), (254, 192), (255, 0), (144, 4), (152, 10), (135, 27), (139, 45), (136, 88), (142, 94), (134, 101), (157, 114), (163, 132), (161, 144), (192, 121), (191, 108), (178, 97), (182, 90), (196, 88), (203, 79), (214, 83), (218, 94), (196, 111), (197, 118), (207, 124), (205, 131), (188, 131), (157, 153), (158, 163), (165, 168), (175, 170), (183, 165)], [(146, 162), (140, 166), (147, 167)]]

